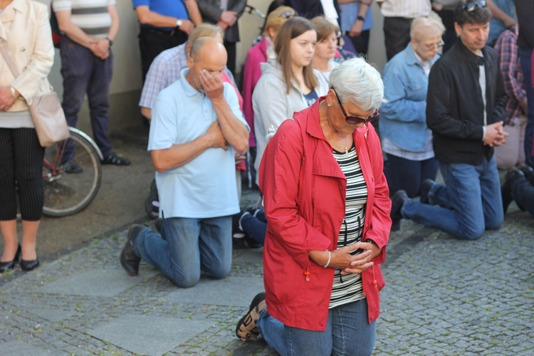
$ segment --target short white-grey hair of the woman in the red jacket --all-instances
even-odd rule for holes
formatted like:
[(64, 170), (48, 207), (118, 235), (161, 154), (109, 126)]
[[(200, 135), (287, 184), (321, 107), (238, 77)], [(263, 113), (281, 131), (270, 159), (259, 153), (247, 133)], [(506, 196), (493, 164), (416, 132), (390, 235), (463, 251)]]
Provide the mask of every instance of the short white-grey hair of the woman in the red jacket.
[(350, 102), (364, 111), (375, 110), (382, 105), (382, 77), (365, 58), (352, 58), (341, 63), (330, 73), (328, 84), (335, 89), (341, 103)]

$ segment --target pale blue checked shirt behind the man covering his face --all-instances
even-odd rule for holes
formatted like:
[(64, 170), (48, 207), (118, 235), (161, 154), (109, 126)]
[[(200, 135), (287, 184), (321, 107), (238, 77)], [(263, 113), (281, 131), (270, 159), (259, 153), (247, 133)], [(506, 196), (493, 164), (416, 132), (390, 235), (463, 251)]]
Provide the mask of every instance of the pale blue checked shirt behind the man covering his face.
[(187, 42), (159, 53), (154, 59), (143, 85), (140, 107), (152, 109), (159, 92), (180, 78), (180, 72), (187, 66), (185, 46)]

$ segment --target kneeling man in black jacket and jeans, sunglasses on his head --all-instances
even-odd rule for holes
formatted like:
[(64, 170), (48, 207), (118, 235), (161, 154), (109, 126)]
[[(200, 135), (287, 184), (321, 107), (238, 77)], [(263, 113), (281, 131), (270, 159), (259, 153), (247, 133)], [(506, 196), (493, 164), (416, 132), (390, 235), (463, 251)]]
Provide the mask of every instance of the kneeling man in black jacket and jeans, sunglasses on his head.
[(454, 17), (461, 41), (432, 67), (426, 98), (426, 124), (446, 185), (426, 180), (420, 202), (397, 192), (392, 218), (476, 240), (503, 224), (493, 147), (508, 136), (503, 130), (506, 93), (498, 54), (485, 46), (491, 19), (486, 1), (460, 1)]

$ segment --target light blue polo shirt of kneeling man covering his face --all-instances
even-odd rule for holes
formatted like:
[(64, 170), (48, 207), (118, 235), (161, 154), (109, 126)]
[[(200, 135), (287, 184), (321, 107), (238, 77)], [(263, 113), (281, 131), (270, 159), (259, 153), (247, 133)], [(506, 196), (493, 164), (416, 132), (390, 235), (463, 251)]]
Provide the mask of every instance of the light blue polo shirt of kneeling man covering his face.
[[(217, 116), (211, 100), (193, 88), (182, 70), (179, 80), (157, 95), (152, 108), (148, 150), (166, 150), (204, 135)], [(224, 98), (246, 125), (236, 90), (224, 83)], [(248, 127), (248, 125), (246, 125)], [(156, 173), (159, 216), (214, 218), (239, 212), (234, 150), (209, 148), (181, 167)]]

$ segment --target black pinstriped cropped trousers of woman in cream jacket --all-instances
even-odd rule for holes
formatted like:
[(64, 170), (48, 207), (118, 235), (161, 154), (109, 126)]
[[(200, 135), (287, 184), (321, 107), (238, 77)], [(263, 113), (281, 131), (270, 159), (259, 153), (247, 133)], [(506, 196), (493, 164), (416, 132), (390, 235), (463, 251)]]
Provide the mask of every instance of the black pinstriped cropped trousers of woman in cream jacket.
[(35, 129), (0, 128), (0, 221), (16, 219), (17, 194), (22, 219), (41, 220), (44, 150)]

